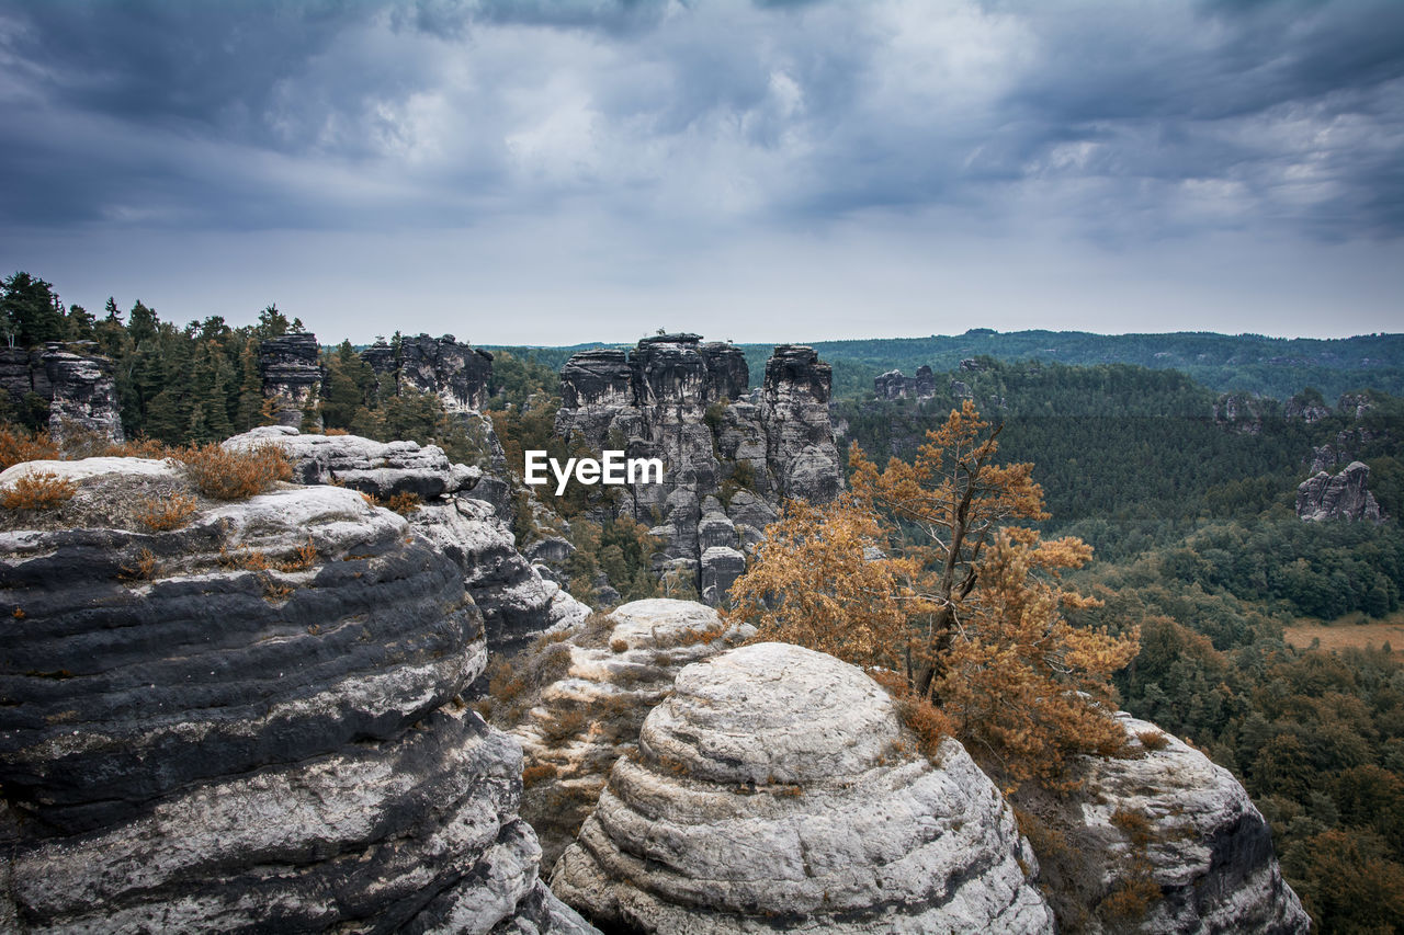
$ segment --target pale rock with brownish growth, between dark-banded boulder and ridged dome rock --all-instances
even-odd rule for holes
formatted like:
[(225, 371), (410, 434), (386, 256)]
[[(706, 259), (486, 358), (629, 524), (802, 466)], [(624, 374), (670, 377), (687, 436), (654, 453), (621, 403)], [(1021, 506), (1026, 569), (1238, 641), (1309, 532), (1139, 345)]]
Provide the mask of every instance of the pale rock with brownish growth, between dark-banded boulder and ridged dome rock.
[(595, 807), (614, 762), (639, 747), (639, 726), (678, 670), (736, 646), (754, 628), (722, 623), (692, 601), (633, 601), (518, 657), (484, 701), (525, 754), (521, 813), (549, 869)]

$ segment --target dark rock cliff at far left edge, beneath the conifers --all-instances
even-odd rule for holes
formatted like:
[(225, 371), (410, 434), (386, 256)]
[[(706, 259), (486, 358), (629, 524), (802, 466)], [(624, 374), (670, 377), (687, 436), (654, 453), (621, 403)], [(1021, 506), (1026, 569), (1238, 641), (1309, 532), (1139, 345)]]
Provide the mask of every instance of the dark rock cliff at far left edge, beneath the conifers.
[(42, 348), (0, 350), (0, 389), (20, 407), (28, 393), (49, 404), (49, 434), (63, 441), (73, 428), (122, 441), (121, 406), (112, 361), (93, 341), (49, 341)]

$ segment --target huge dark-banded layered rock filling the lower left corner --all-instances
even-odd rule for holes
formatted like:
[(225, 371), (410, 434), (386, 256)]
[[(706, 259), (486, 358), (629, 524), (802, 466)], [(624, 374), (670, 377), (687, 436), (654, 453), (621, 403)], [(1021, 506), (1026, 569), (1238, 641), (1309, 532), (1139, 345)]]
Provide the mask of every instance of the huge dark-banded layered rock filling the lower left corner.
[[(538, 879), (455, 564), (337, 487), (199, 500), (171, 462), (0, 532), (0, 918), (58, 931), (587, 931)], [(17, 522), (32, 519), (32, 525)]]

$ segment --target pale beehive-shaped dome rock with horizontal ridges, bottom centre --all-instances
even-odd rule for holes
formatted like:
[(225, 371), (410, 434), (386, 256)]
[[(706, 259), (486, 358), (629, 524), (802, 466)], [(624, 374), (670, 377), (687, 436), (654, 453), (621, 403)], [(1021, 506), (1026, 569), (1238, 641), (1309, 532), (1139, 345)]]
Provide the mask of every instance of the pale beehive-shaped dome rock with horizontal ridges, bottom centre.
[(731, 650), (678, 674), (552, 889), (643, 932), (1053, 931), (1012, 811), (958, 743), (939, 760), (859, 670)]

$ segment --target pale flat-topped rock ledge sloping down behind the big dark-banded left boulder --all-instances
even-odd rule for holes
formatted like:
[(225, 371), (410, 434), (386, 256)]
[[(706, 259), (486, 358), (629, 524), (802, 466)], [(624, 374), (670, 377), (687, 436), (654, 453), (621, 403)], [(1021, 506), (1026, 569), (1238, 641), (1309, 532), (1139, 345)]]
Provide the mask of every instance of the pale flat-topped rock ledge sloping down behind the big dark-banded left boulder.
[(382, 500), (414, 494), (424, 503), (410, 521), (428, 542), (463, 573), (469, 594), (483, 614), (487, 643), (497, 653), (515, 653), (541, 633), (583, 621), (590, 609), (524, 559), (512, 533), (493, 507), (476, 500), (484, 473), (451, 465), (435, 445), (378, 442), (359, 435), (302, 435), (268, 425), (234, 435), (226, 448), (275, 444), (305, 484), (338, 484)]

